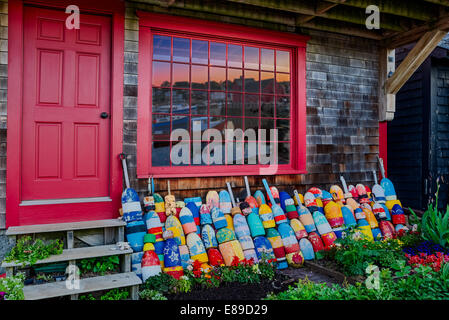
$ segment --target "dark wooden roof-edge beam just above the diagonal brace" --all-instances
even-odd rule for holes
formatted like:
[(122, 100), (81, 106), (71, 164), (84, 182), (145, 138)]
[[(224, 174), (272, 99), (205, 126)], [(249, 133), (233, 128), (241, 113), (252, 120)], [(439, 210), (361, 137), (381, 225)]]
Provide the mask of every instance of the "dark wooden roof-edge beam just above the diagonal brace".
[(423, 37), (426, 32), (436, 29), (442, 31), (449, 30), (449, 14), (441, 16), (436, 21), (428, 22), (405, 32), (396, 33), (382, 40), (380, 45), (386, 48), (398, 48), (403, 45), (413, 43)]

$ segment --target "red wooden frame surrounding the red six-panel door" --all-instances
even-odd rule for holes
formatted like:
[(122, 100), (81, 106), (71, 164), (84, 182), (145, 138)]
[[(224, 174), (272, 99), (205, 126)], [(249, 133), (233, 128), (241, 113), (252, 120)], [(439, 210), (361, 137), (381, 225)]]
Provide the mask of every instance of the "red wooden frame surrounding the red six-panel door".
[[(124, 54), (124, 2), (89, 0), (9, 0), (8, 3), (8, 131), (6, 160), (6, 227), (23, 224), (39, 224), (46, 216), (46, 205), (26, 207), (33, 210), (34, 217), (21, 221), (21, 157), (22, 157), (22, 94), (23, 94), (23, 12), (24, 4), (59, 8), (65, 10), (68, 5), (78, 5), (81, 12), (106, 14), (112, 19), (111, 39), (111, 172), (110, 196), (112, 212), (102, 218), (114, 218), (120, 207), (122, 192), (122, 171), (118, 154), (122, 152), (123, 140), (123, 54)], [(58, 222), (71, 222), (92, 218), (92, 212), (98, 203), (78, 203), (60, 205), (61, 210), (70, 212)]]

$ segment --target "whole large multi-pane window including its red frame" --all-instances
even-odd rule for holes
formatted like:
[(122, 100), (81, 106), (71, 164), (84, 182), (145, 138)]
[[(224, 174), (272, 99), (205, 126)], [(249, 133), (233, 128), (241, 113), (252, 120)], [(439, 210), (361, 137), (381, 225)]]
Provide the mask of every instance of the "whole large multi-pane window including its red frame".
[[(148, 19), (147, 25), (154, 21)], [(191, 32), (199, 29), (194, 22), (183, 22), (161, 22), (173, 26), (173, 31), (141, 29), (139, 96), (148, 91), (139, 100), (138, 177), (257, 174), (266, 164), (260, 154), (275, 155), (279, 173), (304, 172), (304, 38), (289, 35), (285, 46), (282, 36), (273, 38), (276, 43), (253, 41), (251, 35), (226, 39), (223, 29), (217, 29), (217, 37), (210, 35), (210, 29), (209, 34), (196, 34)], [(299, 57), (303, 61), (298, 68)], [(304, 77), (300, 85), (298, 73)], [(187, 163), (170, 159), (180, 143), (171, 139), (176, 129), (189, 132)], [(221, 163), (202, 157), (205, 151), (213, 155), (209, 150), (213, 139), (203, 134), (206, 129), (222, 132)], [(253, 129), (256, 135), (234, 140), (231, 159), (225, 129)], [(266, 134), (259, 135), (258, 129)], [(275, 141), (270, 129), (277, 129)], [(250, 157), (254, 144), (256, 156)]]

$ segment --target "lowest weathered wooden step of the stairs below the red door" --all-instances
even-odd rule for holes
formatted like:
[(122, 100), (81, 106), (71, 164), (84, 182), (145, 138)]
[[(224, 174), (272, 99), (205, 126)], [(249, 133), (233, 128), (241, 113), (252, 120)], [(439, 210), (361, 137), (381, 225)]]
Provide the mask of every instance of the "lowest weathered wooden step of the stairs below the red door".
[(134, 273), (118, 273), (113, 275), (80, 279), (79, 289), (67, 289), (65, 281), (51, 282), (39, 285), (29, 285), (23, 288), (25, 300), (40, 300), (62, 296), (77, 295), (100, 290), (132, 287), (142, 283)]

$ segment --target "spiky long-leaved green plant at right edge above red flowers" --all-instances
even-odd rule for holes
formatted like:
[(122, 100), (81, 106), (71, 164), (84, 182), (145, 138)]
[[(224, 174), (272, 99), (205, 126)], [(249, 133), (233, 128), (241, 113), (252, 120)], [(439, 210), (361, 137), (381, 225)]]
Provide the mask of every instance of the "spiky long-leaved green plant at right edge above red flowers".
[[(421, 232), (425, 240), (432, 241), (448, 248), (449, 245), (449, 206), (446, 207), (446, 213), (438, 211), (438, 193), (440, 185), (437, 185), (437, 192), (435, 195), (435, 204), (432, 202), (427, 206), (427, 210), (424, 212), (421, 218)], [(410, 209), (415, 219), (418, 217), (415, 212)]]

